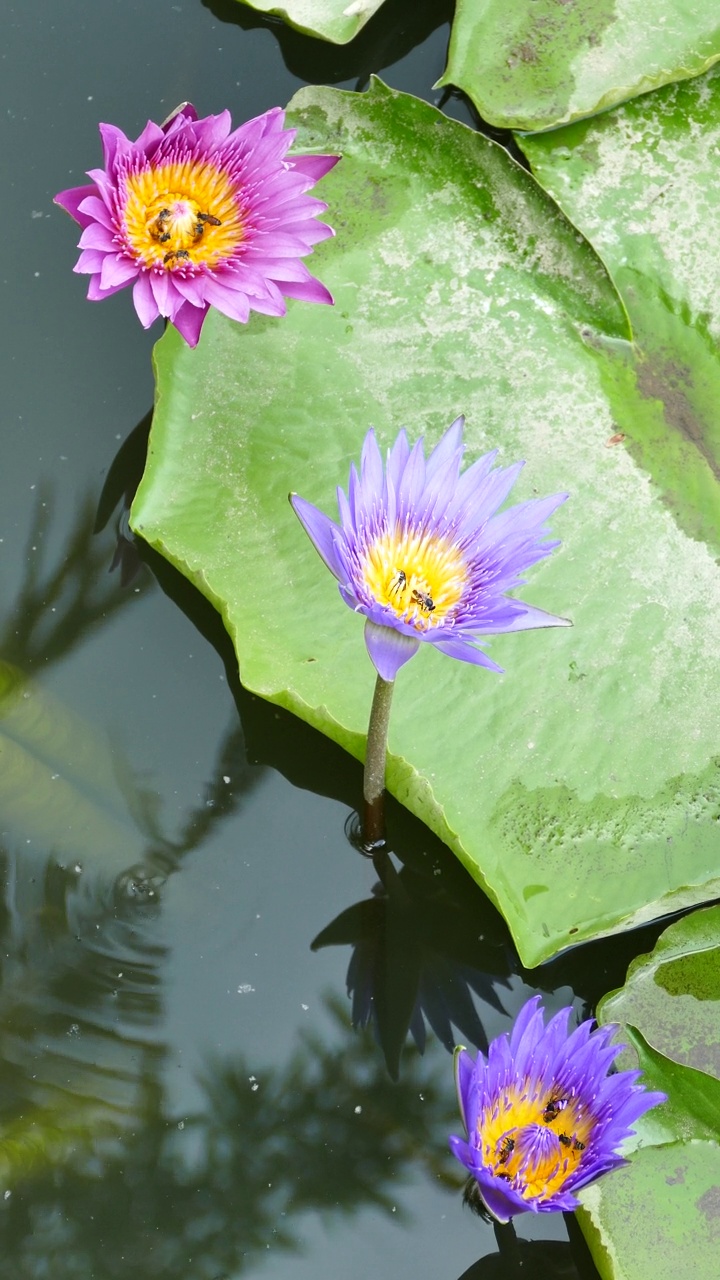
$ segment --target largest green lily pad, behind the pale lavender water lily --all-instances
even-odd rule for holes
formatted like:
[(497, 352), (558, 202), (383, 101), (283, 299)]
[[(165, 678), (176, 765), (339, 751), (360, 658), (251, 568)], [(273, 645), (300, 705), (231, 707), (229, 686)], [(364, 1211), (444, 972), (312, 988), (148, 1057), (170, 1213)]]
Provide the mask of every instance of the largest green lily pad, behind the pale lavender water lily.
[[(168, 330), (135, 530), (222, 611), (246, 686), (361, 759), (363, 620), (287, 493), (334, 515), (370, 425), (432, 443), (465, 412), (470, 456), (527, 460), (516, 499), (571, 492), (523, 595), (574, 628), (497, 637), (500, 677), (421, 646), (397, 680), (389, 790), (528, 965), (716, 896), (720, 577), (606, 447), (642, 398), (602, 265), (502, 148), (415, 99), (310, 88), (292, 123), (304, 150), (343, 156), (320, 188), (337, 239), (311, 264), (336, 307), (211, 312), (195, 351)], [(661, 406), (646, 412), (661, 448)]]

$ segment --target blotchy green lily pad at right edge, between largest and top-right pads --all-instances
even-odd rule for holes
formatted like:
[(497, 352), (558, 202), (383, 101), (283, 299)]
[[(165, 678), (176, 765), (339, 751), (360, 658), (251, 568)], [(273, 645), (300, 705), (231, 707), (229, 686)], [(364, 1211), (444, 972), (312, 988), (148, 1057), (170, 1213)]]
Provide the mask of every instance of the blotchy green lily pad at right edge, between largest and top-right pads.
[(720, 73), (519, 141), (628, 307), (639, 358), (616, 394), (634, 383), (639, 411), (625, 447), (720, 550)]

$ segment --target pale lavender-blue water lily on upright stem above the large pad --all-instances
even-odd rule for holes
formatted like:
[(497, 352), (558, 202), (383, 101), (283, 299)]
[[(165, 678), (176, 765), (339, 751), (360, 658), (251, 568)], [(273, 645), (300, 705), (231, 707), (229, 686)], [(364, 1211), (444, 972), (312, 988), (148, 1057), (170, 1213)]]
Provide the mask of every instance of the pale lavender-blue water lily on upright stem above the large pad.
[(493, 468), (493, 451), (461, 474), (462, 426), (456, 419), (427, 461), (423, 440), (410, 448), (401, 431), (384, 470), (370, 430), (360, 474), (351, 466), (347, 494), (338, 489), (340, 525), (291, 495), (345, 603), (365, 614), (368, 652), (386, 681), (421, 640), (501, 672), (478, 646), (483, 636), (570, 626), (507, 594), (559, 545), (546, 540), (546, 520), (568, 494), (498, 515), (523, 463)]

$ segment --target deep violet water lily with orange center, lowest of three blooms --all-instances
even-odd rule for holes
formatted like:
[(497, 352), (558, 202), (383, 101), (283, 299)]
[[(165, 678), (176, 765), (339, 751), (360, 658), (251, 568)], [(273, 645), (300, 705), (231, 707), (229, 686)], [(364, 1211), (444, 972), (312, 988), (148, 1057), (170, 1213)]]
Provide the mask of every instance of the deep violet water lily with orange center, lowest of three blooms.
[(539, 996), (520, 1010), (510, 1039), (487, 1060), (456, 1050), (456, 1083), (466, 1138), (450, 1147), (500, 1222), (516, 1213), (578, 1207), (575, 1192), (626, 1165), (618, 1155), (633, 1124), (665, 1102), (638, 1084), (641, 1071), (609, 1068), (624, 1047), (616, 1027), (593, 1019), (568, 1034), (570, 1009), (544, 1025)]

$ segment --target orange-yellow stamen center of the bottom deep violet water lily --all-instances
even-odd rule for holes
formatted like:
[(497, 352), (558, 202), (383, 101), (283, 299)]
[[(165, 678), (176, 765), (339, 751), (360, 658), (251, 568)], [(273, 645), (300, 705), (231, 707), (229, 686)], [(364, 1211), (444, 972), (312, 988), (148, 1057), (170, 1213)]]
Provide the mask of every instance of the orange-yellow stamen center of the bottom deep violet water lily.
[(525, 1199), (552, 1196), (575, 1171), (593, 1129), (579, 1098), (506, 1089), (478, 1120), (486, 1167)]

